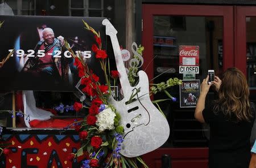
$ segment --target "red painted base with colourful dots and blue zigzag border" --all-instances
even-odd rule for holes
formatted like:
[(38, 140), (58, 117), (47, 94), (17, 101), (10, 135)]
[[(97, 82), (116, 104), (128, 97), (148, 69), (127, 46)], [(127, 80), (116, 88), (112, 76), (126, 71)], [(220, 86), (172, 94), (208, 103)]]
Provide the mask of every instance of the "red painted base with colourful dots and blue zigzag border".
[(80, 148), (78, 135), (3, 135), (10, 143), (9, 156), (0, 157), (1, 168), (71, 168), (80, 167), (80, 158), (68, 161), (69, 153)]

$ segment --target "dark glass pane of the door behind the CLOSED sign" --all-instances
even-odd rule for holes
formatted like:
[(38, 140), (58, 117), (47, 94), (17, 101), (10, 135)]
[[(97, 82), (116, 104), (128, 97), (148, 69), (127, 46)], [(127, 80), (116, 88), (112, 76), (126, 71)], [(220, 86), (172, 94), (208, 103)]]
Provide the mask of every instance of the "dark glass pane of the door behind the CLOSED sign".
[[(180, 46), (196, 46), (199, 50), (199, 72), (194, 79), (202, 81), (208, 70), (215, 75), (222, 74), (222, 37), (223, 18), (200, 16), (154, 16), (154, 83), (166, 81), (171, 77), (183, 79), (179, 73)], [(191, 78), (193, 79), (193, 77)], [(162, 104), (167, 115), (171, 133), (167, 147), (207, 146), (209, 126), (201, 124), (194, 118), (195, 107), (181, 108), (179, 87), (170, 93), (178, 101)], [(189, 94), (188, 94), (189, 95)], [(199, 94), (194, 95), (197, 101)], [(156, 94), (155, 100), (163, 99), (163, 94)], [(208, 102), (214, 99), (210, 91)], [(194, 105), (195, 106), (195, 105)]]

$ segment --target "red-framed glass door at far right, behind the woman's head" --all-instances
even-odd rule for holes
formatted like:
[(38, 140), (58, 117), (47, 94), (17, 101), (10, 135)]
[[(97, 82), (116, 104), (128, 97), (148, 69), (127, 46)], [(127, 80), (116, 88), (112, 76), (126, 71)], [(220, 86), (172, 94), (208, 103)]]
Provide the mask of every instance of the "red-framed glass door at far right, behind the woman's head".
[(250, 99), (256, 102), (256, 7), (238, 6), (235, 64), (247, 76)]

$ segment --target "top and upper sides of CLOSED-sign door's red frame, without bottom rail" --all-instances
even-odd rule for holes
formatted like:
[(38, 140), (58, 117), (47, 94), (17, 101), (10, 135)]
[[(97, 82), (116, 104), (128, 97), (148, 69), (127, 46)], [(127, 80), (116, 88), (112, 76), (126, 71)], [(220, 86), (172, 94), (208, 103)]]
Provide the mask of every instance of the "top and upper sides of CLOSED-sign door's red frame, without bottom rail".
[(223, 69), (234, 66), (234, 34), (233, 34), (233, 7), (232, 6), (205, 6), (205, 5), (152, 5), (142, 6), (143, 31), (142, 45), (146, 55), (144, 67), (148, 79), (153, 78), (154, 68), (150, 61), (153, 58), (153, 16), (154, 15), (187, 15), (187, 16), (222, 16), (223, 17)]

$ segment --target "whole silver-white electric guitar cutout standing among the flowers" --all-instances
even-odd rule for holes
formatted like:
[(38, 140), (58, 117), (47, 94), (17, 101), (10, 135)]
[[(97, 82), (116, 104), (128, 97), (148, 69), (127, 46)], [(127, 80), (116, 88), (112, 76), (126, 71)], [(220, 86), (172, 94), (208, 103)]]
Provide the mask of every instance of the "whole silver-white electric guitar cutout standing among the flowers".
[[(109, 98), (110, 103), (121, 115), (121, 124), (125, 129), (120, 153), (126, 157), (141, 156), (166, 142), (170, 134), (169, 124), (150, 100), (146, 72), (139, 71), (139, 83), (131, 87), (122, 61), (117, 30), (108, 19), (104, 19), (102, 24), (106, 26), (106, 35), (110, 36), (112, 42), (124, 96), (121, 101), (115, 101), (112, 96)], [(132, 94), (135, 96), (128, 103)]]

